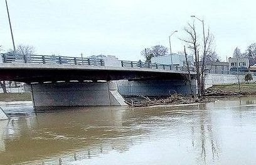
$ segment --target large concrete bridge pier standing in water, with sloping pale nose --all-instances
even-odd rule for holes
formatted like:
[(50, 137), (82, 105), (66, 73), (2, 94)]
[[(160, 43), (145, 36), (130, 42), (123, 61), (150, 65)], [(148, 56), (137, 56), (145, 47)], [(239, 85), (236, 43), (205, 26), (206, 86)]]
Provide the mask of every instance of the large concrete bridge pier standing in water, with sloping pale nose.
[(126, 105), (115, 82), (60, 82), (26, 84), (35, 110), (75, 106)]

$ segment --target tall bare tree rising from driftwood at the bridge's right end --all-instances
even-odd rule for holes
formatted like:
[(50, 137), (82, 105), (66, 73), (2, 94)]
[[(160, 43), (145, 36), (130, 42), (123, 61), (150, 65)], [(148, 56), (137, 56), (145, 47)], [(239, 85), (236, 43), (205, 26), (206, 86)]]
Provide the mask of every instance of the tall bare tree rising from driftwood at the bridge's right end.
[[(213, 50), (214, 37), (208, 29), (205, 40), (203, 43), (203, 53), (200, 55), (200, 42), (198, 41), (198, 34), (196, 32), (195, 23), (189, 24), (184, 28), (184, 31), (188, 35), (186, 39), (183, 40), (187, 45), (191, 53), (195, 56), (195, 68), (196, 68), (196, 81), (198, 85), (198, 97), (201, 98), (205, 90), (205, 72), (206, 72), (206, 56), (210, 55)], [(200, 61), (201, 60), (201, 61)]]

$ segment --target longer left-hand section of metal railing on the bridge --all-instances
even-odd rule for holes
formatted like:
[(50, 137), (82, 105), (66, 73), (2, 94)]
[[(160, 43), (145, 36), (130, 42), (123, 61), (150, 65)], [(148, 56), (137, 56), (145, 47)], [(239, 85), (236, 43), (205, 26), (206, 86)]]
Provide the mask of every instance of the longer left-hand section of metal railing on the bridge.
[(3, 53), (4, 63), (38, 63), (38, 64), (63, 64), (63, 65), (100, 65), (104, 66), (104, 60), (97, 58), (80, 58), (69, 56), (43, 56), (43, 55), (19, 55)]

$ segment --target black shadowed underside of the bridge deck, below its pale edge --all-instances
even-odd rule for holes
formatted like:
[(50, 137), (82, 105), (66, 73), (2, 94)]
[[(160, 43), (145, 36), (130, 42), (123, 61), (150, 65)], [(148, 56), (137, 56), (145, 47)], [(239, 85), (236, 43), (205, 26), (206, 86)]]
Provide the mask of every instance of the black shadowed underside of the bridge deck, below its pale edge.
[(180, 73), (125, 72), (106, 70), (0, 70), (0, 80), (14, 82), (56, 82), (70, 80), (173, 80), (184, 79)]

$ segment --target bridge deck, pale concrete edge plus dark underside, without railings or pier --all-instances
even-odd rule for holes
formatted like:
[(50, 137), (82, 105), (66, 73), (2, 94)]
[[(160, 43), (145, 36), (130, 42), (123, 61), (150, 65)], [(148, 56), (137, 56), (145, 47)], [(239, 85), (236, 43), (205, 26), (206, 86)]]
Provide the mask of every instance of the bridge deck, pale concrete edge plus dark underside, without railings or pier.
[(70, 80), (182, 80), (188, 72), (149, 68), (92, 67), (77, 65), (0, 64), (0, 80), (14, 82), (56, 82)]

